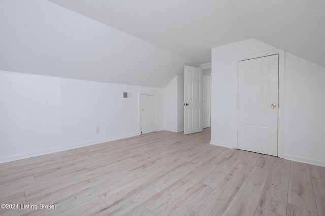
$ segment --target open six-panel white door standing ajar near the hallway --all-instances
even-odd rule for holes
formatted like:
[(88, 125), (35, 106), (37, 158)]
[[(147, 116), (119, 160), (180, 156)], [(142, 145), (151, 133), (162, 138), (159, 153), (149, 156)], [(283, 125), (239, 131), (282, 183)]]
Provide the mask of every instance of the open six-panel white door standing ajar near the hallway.
[(202, 132), (202, 69), (184, 66), (184, 134)]

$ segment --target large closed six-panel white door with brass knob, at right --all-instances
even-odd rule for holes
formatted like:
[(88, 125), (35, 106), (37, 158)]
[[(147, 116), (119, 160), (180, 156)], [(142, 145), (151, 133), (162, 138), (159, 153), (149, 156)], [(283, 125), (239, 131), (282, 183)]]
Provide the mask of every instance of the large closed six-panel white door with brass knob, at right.
[(239, 62), (238, 149), (277, 156), (279, 56)]

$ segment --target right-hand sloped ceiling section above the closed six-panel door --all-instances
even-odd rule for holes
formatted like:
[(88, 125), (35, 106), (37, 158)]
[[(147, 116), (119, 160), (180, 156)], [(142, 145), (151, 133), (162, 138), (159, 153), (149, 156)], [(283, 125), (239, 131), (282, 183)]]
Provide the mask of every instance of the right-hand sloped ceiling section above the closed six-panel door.
[(229, 3), (252, 37), (325, 67), (325, 1)]

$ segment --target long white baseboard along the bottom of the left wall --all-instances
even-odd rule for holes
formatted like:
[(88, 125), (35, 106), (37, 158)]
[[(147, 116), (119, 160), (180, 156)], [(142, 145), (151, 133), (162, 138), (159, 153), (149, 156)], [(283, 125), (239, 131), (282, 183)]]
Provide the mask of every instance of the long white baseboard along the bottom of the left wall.
[(28, 154), (13, 155), (13, 156), (1, 158), (0, 163), (6, 163), (6, 162), (10, 162), (10, 161), (15, 161), (15, 160), (26, 159), (26, 158), (30, 158), (30, 157), (37, 157), (37, 156), (41, 156), (41, 155), (45, 155), (45, 154), (51, 154), (51, 153), (66, 151), (66, 150), (70, 150), (70, 149), (77, 149), (80, 147), (91, 146), (91, 145), (106, 143), (106, 142), (113, 141), (113, 140), (120, 140), (120, 139), (124, 139), (124, 138), (135, 137), (135, 136), (139, 136), (139, 134), (138, 133), (129, 134), (129, 135), (124, 135), (124, 136), (119, 136), (119, 137), (95, 140), (95, 141), (91, 141), (91, 142), (76, 143), (76, 144), (67, 145), (67, 146), (63, 146), (63, 147), (59, 147), (59, 148), (46, 149), (46, 150), (32, 152), (32, 153), (28, 153)]

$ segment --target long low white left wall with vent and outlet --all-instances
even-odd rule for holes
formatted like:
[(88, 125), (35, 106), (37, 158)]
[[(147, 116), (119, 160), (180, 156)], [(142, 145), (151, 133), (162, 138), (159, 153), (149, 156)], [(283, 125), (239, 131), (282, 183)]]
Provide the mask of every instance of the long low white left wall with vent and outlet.
[(0, 71), (0, 162), (137, 136), (139, 93), (163, 129), (164, 89)]

